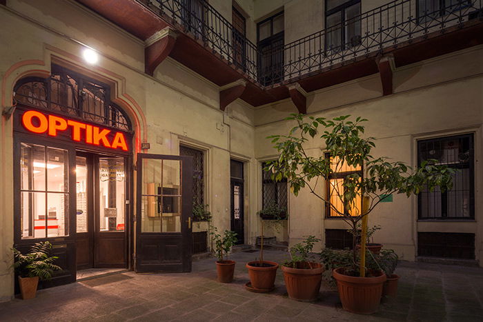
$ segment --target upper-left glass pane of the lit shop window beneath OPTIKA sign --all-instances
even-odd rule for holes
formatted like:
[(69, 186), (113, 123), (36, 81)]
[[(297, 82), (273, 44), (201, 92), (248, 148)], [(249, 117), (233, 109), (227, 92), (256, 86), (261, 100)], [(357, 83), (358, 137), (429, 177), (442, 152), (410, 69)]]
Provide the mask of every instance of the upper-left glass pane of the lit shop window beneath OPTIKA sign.
[(21, 189), (46, 189), (46, 147), (21, 143)]

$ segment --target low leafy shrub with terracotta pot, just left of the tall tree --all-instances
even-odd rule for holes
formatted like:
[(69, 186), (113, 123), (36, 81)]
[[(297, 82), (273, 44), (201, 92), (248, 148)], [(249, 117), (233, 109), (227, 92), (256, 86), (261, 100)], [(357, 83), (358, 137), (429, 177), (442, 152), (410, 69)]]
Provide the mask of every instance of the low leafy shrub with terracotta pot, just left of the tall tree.
[(297, 301), (315, 301), (319, 295), (324, 266), (308, 260), (308, 254), (320, 239), (308, 236), (290, 248), (290, 261), (282, 265), (288, 297)]

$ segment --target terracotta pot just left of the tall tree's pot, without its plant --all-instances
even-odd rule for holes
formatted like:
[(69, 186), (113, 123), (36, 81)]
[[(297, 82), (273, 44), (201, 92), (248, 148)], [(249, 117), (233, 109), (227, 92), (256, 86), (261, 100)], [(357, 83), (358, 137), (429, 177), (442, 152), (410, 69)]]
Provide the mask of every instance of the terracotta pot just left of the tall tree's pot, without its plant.
[(282, 266), (288, 297), (297, 301), (315, 301), (319, 295), (324, 266), (319, 263), (297, 263), (297, 268)]

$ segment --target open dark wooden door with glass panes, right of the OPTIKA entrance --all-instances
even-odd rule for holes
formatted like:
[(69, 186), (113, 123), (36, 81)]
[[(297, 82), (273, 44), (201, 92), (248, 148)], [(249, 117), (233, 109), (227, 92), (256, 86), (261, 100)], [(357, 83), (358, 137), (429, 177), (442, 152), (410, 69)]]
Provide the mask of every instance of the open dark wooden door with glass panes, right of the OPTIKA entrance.
[(136, 272), (190, 272), (193, 160), (137, 154)]

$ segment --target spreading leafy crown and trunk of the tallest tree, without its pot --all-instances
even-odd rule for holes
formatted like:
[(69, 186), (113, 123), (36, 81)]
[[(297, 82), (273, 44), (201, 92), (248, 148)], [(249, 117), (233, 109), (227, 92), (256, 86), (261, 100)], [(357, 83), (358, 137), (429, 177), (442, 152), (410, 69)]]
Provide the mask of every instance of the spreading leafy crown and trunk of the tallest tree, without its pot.
[[(273, 173), (273, 179), (286, 178), (295, 196), (302, 188), (307, 188), (348, 223), (354, 236), (357, 223), (391, 194), (404, 193), (409, 197), (425, 188), (433, 191), (440, 187), (443, 192), (451, 189), (451, 176), (455, 170), (438, 165), (435, 160), (423, 161), (412, 169), (402, 162), (389, 161), (387, 157), (372, 157), (375, 138), (363, 137), (363, 124), (367, 120), (357, 117), (352, 121), (349, 118), (350, 115), (344, 115), (334, 119), (308, 117), (307, 120), (303, 114), (292, 114), (287, 120), (295, 122), (295, 126), (288, 135), (268, 137), (279, 152), (278, 159), (268, 163), (267, 170)], [(306, 152), (306, 143), (316, 136), (322, 139), (330, 158), (324, 155), (313, 157)], [(317, 184), (331, 183), (331, 174), (342, 172), (345, 167), (364, 168), (364, 172), (349, 174), (340, 185), (330, 184), (328, 196), (321, 194)], [(366, 201), (361, 205), (363, 199)], [(344, 207), (337, 207), (339, 203)], [(356, 240), (354, 237), (352, 271), (357, 271), (358, 265)]]

